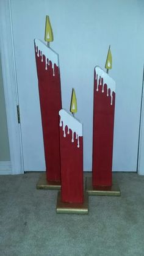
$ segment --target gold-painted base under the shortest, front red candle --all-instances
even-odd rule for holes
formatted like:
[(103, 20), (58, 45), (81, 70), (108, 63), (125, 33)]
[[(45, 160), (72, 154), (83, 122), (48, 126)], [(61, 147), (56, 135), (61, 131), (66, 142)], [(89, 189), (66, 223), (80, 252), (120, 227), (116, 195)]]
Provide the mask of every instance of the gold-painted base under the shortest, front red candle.
[(57, 194), (57, 213), (69, 214), (88, 214), (88, 193), (84, 194), (84, 203), (63, 203), (61, 201), (61, 192)]

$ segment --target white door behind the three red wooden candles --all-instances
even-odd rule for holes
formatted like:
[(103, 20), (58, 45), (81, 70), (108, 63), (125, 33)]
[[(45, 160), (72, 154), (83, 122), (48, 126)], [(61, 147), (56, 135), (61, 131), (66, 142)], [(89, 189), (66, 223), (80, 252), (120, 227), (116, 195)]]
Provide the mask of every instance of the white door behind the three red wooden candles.
[(70, 108), (74, 87), (77, 118), (84, 123), (85, 170), (92, 169), (93, 68), (104, 68), (109, 45), (113, 56), (109, 74), (117, 83), (113, 170), (136, 170), (143, 11), (144, 2), (140, 0), (12, 0), (21, 127), (22, 134), (24, 130), (31, 134), (29, 139), (23, 136), (26, 169), (32, 170), (31, 160), (39, 169), (44, 168), (44, 158), (38, 158), (40, 154), (32, 148), (43, 152), (33, 40), (44, 40), (45, 16), (49, 15), (54, 32), (51, 47), (60, 57), (63, 108)]

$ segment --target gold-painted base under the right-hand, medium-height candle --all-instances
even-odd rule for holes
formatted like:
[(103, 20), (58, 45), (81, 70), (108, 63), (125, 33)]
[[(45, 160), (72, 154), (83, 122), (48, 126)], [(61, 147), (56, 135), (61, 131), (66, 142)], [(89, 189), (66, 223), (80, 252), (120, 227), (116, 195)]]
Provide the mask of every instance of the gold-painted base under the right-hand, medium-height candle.
[(109, 187), (92, 185), (92, 177), (86, 178), (85, 190), (88, 192), (88, 196), (120, 196), (120, 188), (117, 184), (113, 184)]

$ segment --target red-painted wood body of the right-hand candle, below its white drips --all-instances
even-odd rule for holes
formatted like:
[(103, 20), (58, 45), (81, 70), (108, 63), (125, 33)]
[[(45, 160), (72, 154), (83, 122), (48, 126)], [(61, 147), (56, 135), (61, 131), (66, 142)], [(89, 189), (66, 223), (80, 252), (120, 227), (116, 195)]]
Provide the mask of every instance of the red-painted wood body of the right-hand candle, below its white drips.
[(96, 91), (97, 82), (99, 81), (95, 79), (92, 182), (93, 186), (111, 186), (115, 92), (113, 92), (113, 102), (110, 105), (110, 89), (107, 97), (107, 84), (104, 85), (104, 92), (102, 92), (102, 85)]

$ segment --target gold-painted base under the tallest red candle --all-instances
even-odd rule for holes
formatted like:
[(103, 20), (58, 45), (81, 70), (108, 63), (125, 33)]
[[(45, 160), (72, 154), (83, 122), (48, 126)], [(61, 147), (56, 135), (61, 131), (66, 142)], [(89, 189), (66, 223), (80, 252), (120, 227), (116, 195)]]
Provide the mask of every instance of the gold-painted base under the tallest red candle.
[(56, 190), (60, 190), (61, 189), (61, 185), (60, 185), (60, 181), (47, 181), (46, 180), (46, 173), (41, 174), (40, 178), (38, 180), (37, 189), (56, 189)]

